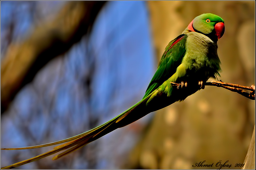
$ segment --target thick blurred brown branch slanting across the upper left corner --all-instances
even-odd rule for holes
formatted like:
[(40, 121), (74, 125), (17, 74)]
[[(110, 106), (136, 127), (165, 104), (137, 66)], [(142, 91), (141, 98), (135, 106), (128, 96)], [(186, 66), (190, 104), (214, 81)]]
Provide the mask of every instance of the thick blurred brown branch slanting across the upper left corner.
[(90, 30), (105, 1), (72, 1), (56, 18), (36, 27), (22, 43), (13, 42), (1, 63), (1, 113), (17, 92), (52, 58), (66, 52)]

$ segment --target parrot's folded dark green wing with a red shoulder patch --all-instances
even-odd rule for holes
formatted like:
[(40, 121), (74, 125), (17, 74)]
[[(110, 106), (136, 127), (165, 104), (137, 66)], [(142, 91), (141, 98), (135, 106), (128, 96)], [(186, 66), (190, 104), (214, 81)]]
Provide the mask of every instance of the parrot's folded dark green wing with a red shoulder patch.
[(148, 85), (145, 98), (160, 85), (163, 84), (168, 78), (176, 72), (177, 67), (181, 64), (181, 61), (185, 55), (187, 35), (181, 34), (173, 39), (165, 48), (164, 54), (159, 62), (156, 73)]

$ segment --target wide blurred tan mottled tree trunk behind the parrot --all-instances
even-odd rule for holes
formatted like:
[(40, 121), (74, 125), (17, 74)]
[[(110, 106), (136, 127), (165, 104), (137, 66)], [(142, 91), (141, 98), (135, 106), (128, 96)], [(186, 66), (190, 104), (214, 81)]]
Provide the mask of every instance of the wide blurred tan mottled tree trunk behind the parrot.
[[(166, 45), (192, 19), (213, 13), (225, 21), (225, 33), (218, 42), (221, 79), (245, 86), (255, 84), (255, 2), (148, 1), (148, 8), (157, 63)], [(197, 168), (192, 165), (204, 160), (206, 164), (229, 160), (232, 168), (241, 169), (235, 164), (243, 163), (251, 137), (255, 138), (254, 133), (251, 136), (254, 113), (254, 101), (225, 89), (207, 87), (157, 111), (132, 150), (127, 166), (192, 169)]]

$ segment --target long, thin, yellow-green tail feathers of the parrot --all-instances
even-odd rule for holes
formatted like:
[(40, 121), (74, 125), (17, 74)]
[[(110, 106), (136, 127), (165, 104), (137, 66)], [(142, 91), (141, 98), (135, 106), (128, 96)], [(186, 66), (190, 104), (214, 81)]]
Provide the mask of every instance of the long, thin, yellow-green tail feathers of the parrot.
[[(64, 140), (60, 140), (57, 142), (52, 142), (52, 143), (48, 143), (48, 144), (44, 144), (44, 145), (36, 145), (36, 146), (30, 146), (30, 147), (22, 147), (22, 148), (4, 148), (3, 150), (20, 150), (20, 149), (33, 149), (33, 148), (40, 148), (40, 147), (46, 147), (46, 146), (51, 146), (51, 145), (56, 145), (56, 144), (62, 144), (62, 145), (58, 145), (56, 147), (54, 147), (53, 150), (49, 151), (49, 152), (45, 152), (41, 155), (35, 156), (33, 158), (24, 160), (24, 161), (20, 161), (17, 162), (15, 164), (12, 164), (10, 166), (5, 166), (2, 167), (1, 169), (10, 169), (10, 168), (14, 168), (17, 166), (21, 166), (42, 158), (45, 158), (47, 156), (50, 156), (52, 154), (55, 154), (57, 152), (66, 150), (60, 154), (58, 154), (57, 156), (53, 157), (52, 159), (58, 159), (61, 158), (65, 155), (67, 155), (68, 153), (71, 153), (85, 145), (87, 145), (88, 143), (108, 134), (111, 131), (114, 131), (117, 128), (123, 127), (125, 125), (128, 125), (136, 120), (138, 120), (141, 117), (144, 117), (145, 115), (147, 115), (148, 113), (141, 113), (141, 112), (145, 112), (145, 107), (146, 107), (146, 102), (148, 101), (148, 99), (150, 98), (150, 96), (153, 94), (153, 92), (148, 95), (147, 97), (143, 98), (143, 100), (141, 100), (139, 103), (133, 105), (130, 109), (126, 110), (124, 113), (120, 114), (119, 116), (113, 118), (112, 120), (108, 121), (105, 124), (102, 124), (90, 131), (86, 131), (82, 134), (76, 135), (74, 137), (71, 138), (67, 138)], [(126, 120), (123, 121), (124, 117), (129, 116), (128, 119), (130, 120)], [(135, 117), (135, 118), (134, 118)], [(121, 122), (120, 122), (121, 121)], [(122, 122), (123, 121), (123, 122)], [(65, 143), (67, 142), (67, 143)]]

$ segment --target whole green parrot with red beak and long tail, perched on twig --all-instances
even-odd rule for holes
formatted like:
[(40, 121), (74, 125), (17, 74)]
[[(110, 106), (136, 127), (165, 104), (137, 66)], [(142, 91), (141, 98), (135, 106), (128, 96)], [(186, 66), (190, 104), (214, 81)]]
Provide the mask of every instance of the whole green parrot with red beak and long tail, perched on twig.
[(166, 46), (156, 73), (140, 102), (107, 123), (74, 137), (44, 145), (5, 148), (4, 150), (32, 149), (62, 144), (54, 147), (52, 151), (2, 169), (24, 165), (65, 150), (52, 158), (58, 159), (117, 128), (131, 124), (150, 112), (183, 101), (196, 91), (204, 89), (204, 82), (219, 75), (217, 41), (223, 36), (224, 31), (224, 21), (219, 16), (211, 13), (197, 16), (181, 35)]

